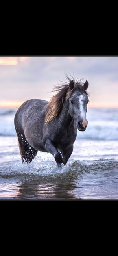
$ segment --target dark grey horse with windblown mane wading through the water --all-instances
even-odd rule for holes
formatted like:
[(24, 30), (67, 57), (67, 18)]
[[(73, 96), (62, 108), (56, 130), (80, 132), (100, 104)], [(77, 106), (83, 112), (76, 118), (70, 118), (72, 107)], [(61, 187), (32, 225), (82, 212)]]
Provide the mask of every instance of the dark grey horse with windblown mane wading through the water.
[(66, 78), (67, 82), (55, 86), (50, 102), (31, 99), (18, 108), (14, 123), (22, 162), (30, 163), (42, 151), (51, 153), (57, 165), (66, 165), (77, 129), (86, 130), (89, 82)]

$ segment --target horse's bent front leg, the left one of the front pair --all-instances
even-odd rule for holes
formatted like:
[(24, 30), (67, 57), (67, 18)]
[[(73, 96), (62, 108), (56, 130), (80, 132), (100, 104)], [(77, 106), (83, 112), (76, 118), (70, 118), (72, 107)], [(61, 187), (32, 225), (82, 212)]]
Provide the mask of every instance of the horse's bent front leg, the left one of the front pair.
[(47, 139), (44, 142), (44, 147), (46, 148), (46, 150), (49, 153), (51, 153), (53, 155), (57, 164), (63, 163), (63, 156), (61, 153), (59, 153), (59, 151), (57, 150), (57, 148), (55, 147), (55, 145), (53, 144), (53, 141), (51, 141), (51, 139)]

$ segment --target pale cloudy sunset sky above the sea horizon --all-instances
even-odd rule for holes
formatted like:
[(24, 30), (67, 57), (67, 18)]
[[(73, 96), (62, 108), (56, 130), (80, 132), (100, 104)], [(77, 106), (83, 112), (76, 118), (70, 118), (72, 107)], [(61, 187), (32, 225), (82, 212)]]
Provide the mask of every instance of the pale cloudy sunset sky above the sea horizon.
[(65, 72), (89, 82), (89, 107), (118, 107), (118, 57), (0, 57), (0, 107), (50, 100)]

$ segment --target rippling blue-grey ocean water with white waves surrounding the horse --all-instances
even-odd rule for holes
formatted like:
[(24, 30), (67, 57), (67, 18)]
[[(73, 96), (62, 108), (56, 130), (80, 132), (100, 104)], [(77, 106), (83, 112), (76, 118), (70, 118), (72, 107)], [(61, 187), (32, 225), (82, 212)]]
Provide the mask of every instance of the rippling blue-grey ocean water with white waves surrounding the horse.
[(118, 109), (89, 108), (88, 126), (58, 168), (38, 152), (23, 163), (14, 128), (17, 109), (0, 109), (0, 199), (118, 199)]

